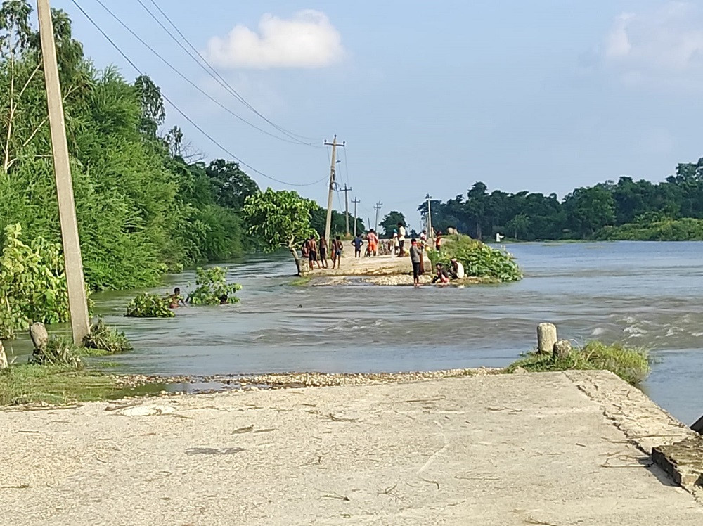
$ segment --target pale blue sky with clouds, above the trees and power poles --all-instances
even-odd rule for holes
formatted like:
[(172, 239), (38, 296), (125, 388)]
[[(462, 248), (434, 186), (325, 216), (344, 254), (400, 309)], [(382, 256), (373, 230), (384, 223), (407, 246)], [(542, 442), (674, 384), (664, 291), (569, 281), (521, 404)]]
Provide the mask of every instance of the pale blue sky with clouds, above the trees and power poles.
[[(380, 202), (381, 217), (399, 210), (419, 229), (427, 193), (446, 200), (476, 181), (562, 198), (621, 175), (660, 181), (703, 156), (703, 1), (141, 0), (159, 17), (160, 6), (257, 112), (307, 138), (295, 141), (207, 75), (139, 0), (101, 1), (268, 134), (179, 77), (98, 0), (76, 1), (215, 141), (259, 172), (308, 184), (244, 167), (262, 188), (326, 205), (323, 141), (337, 134), (346, 144), (337, 182), (372, 226)], [(72, 0), (51, 5), (70, 14), (96, 67), (138, 75)], [(164, 130), (174, 125), (207, 159), (230, 158), (167, 104)], [(343, 210), (344, 193), (334, 205)]]

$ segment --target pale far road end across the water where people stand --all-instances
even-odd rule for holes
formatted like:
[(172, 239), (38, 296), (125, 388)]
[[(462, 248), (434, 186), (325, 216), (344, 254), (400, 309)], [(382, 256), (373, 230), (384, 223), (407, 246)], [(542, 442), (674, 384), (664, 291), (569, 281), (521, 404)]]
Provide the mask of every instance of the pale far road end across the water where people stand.
[[(422, 285), (432, 284), (432, 262), (425, 257), (425, 274), (420, 276)], [(331, 262), (330, 262), (331, 265)], [(311, 286), (333, 286), (333, 285), (413, 285), (413, 264), (410, 256), (375, 256), (375, 257), (350, 257), (342, 256), (342, 268), (318, 269), (308, 271), (305, 277), (309, 279)], [(481, 283), (494, 283), (489, 278), (467, 277), (452, 280), (451, 286), (477, 285)]]

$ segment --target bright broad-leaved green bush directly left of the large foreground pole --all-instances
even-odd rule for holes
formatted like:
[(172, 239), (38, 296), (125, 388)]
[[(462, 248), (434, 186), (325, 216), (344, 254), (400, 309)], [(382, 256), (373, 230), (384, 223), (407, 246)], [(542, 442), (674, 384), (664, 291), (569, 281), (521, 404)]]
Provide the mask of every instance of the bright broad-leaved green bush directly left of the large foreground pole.
[(34, 321), (68, 319), (68, 291), (57, 243), (20, 240), (20, 224), (6, 226), (0, 252), (0, 340), (12, 338)]

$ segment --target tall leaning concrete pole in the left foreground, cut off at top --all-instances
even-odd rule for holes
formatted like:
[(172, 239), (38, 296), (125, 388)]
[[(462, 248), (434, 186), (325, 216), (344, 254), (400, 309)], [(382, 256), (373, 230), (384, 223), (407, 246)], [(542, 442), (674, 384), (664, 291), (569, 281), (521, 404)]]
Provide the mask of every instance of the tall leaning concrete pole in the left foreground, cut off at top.
[(58, 79), (56, 42), (53, 38), (53, 23), (51, 21), (49, 0), (37, 0), (37, 13), (39, 14), (41, 56), (44, 60), (44, 82), (46, 83), (46, 103), (49, 108), (51, 150), (53, 153), (53, 168), (56, 175), (56, 195), (58, 197), (58, 215), (61, 224), (61, 239), (63, 241), (63, 260), (66, 267), (71, 333), (73, 342), (76, 345), (82, 345), (83, 339), (90, 332), (88, 302), (86, 301), (85, 281), (83, 278), (81, 243), (78, 238), (76, 205), (73, 199), (73, 182), (63, 115), (63, 98)]

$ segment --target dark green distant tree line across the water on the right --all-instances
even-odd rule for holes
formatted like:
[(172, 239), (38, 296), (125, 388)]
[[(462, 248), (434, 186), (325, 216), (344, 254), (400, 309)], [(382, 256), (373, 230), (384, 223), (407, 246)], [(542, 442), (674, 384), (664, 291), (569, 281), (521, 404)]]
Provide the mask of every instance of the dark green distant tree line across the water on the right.
[[(432, 226), (478, 239), (501, 233), (519, 240), (703, 240), (703, 158), (682, 163), (661, 183), (620, 177), (555, 193), (489, 193), (475, 183), (446, 203), (433, 200)], [(427, 217), (427, 202), (418, 211)]]

